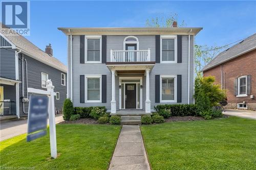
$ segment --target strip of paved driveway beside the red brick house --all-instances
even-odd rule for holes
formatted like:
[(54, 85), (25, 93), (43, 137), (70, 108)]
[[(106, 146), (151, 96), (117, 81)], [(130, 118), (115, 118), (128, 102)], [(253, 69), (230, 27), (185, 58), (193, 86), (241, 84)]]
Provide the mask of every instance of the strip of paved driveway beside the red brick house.
[(256, 119), (256, 111), (225, 109), (225, 115)]

